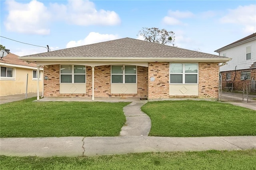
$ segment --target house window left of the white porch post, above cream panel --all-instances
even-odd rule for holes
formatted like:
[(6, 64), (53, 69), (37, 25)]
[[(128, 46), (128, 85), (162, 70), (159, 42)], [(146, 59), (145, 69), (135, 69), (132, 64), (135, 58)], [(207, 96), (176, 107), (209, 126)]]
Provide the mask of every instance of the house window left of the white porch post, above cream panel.
[(86, 83), (85, 65), (60, 65), (60, 83)]

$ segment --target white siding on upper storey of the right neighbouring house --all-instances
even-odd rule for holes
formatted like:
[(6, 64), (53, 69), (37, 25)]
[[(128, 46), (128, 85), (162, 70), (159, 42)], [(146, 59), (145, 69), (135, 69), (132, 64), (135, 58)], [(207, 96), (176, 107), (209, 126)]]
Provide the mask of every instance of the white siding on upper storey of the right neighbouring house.
[[(251, 59), (246, 60), (246, 47), (250, 45)], [(224, 53), (226, 53), (226, 57), (230, 57), (232, 60), (228, 61), (227, 65), (221, 66), (220, 71), (235, 70), (236, 66), (236, 70), (249, 69), (256, 62), (256, 40), (220, 51), (220, 56), (223, 56)]]

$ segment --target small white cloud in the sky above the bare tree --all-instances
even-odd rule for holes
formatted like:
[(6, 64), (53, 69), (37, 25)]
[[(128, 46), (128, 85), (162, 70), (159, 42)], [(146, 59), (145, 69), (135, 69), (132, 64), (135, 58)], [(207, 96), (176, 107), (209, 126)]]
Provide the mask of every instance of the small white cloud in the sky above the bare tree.
[(176, 11), (172, 11), (172, 10), (169, 10), (168, 11), (168, 16), (165, 16), (163, 19), (162, 19), (162, 22), (166, 25), (186, 25), (184, 23), (182, 23), (180, 20), (178, 20), (177, 18), (191, 18), (193, 17), (194, 14), (192, 12), (189, 12), (189, 11), (179, 11), (179, 10), (176, 10)]

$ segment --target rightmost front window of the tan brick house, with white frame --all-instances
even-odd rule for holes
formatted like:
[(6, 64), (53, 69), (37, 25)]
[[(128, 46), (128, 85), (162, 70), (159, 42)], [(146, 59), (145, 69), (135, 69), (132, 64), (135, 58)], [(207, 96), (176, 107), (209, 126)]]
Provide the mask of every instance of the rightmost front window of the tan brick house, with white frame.
[(170, 83), (197, 84), (197, 63), (170, 63)]

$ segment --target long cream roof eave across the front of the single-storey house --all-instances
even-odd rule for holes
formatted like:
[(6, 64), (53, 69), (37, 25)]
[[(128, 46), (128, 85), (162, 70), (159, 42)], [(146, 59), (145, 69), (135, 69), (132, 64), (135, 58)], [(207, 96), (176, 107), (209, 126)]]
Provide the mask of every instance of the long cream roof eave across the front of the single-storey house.
[(148, 62), (171, 62), (171, 61), (196, 61), (196, 62), (226, 62), (230, 61), (228, 57), (218, 58), (192, 58), (192, 57), (19, 57), (24, 61), (148, 61)]

